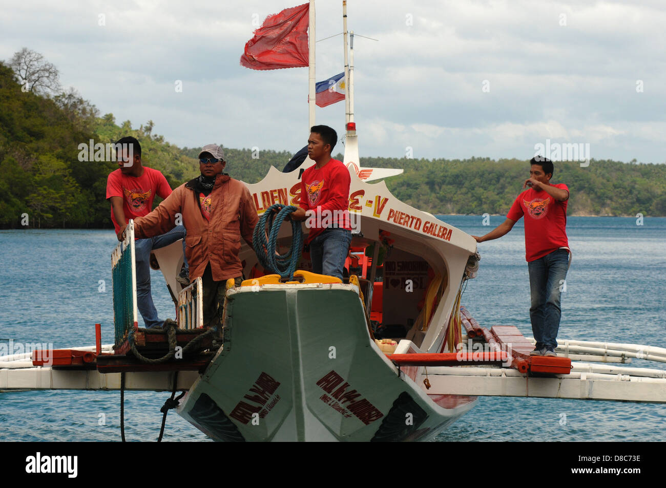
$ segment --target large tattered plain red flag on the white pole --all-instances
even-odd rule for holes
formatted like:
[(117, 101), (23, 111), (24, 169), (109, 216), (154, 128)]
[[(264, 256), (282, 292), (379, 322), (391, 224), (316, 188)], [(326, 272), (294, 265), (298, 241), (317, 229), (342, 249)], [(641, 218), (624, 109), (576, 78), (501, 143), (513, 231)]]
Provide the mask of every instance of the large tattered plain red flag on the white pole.
[(240, 64), (250, 69), (281, 69), (308, 66), (308, 20), (310, 4), (268, 15), (245, 45)]

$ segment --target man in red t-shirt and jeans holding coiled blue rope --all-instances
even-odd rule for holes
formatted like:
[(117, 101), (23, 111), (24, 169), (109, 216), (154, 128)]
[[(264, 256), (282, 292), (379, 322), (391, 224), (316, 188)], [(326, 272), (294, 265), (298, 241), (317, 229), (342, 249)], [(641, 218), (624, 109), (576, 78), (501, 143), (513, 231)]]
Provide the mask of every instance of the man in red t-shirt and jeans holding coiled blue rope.
[(331, 158), (338, 140), (336, 131), (326, 125), (314, 125), (308, 138), (308, 156), (316, 164), (300, 178), (300, 208), (292, 212), (294, 220), (306, 220), (310, 230), (312, 271), (342, 280), (344, 261), (352, 243), (349, 219), (349, 187), (352, 178), (341, 161)]

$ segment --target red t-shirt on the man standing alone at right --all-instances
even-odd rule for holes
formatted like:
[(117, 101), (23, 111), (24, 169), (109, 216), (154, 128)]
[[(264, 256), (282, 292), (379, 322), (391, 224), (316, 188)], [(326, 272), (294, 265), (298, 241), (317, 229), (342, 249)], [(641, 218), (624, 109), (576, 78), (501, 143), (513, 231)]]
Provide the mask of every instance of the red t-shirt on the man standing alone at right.
[[(569, 191), (563, 183), (555, 188)], [(519, 194), (506, 218), (519, 220), (525, 216), (525, 260), (543, 258), (559, 248), (569, 248), (567, 239), (567, 202), (559, 202), (547, 192), (527, 188)]]

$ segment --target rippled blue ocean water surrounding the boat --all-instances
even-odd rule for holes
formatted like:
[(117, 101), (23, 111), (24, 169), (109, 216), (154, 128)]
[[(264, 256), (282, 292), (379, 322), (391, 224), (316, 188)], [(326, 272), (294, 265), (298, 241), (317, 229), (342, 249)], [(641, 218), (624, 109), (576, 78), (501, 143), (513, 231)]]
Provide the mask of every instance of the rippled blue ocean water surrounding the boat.
[[(503, 221), (440, 216), (482, 235)], [(562, 298), (559, 338), (666, 344), (666, 218), (569, 217), (573, 262)], [(109, 230), (0, 231), (0, 339), (92, 345), (95, 323), (102, 342), (113, 342)], [(463, 304), (484, 326), (511, 324), (531, 336), (529, 279), (522, 222), (499, 240), (480, 244), (480, 272)], [(161, 317), (173, 304), (160, 272), (153, 298)], [(5, 341), (6, 344), (6, 341)], [(666, 369), (634, 360), (629, 366)], [(160, 407), (168, 393), (127, 392), (128, 440), (157, 439)], [(117, 391), (12, 391), (0, 393), (0, 441), (120, 440)], [(564, 419), (564, 421), (563, 421)], [(537, 398), (482, 397), (438, 441), (661, 441), (666, 405)], [(165, 441), (206, 441), (175, 413)]]

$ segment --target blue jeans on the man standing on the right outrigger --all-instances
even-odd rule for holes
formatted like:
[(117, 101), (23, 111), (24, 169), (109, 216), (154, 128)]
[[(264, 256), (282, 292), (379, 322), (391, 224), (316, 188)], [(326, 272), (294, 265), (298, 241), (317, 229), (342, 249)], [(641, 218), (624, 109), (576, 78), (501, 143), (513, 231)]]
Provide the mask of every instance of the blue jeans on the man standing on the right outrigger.
[(561, 290), (569, 269), (569, 252), (557, 249), (545, 256), (528, 262), (529, 292), (531, 307), (529, 318), (532, 333), (537, 344), (536, 349), (557, 348), (559, 330), (559, 307)]

